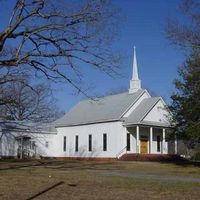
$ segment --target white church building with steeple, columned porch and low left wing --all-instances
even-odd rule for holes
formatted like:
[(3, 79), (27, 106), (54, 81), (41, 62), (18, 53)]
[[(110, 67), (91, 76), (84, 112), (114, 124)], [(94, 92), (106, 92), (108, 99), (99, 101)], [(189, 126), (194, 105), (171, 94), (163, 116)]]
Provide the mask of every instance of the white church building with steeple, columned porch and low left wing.
[(48, 129), (12, 129), (10, 134), (2, 127), (0, 154), (17, 156), (26, 149), (31, 155), (76, 159), (176, 153), (176, 143), (167, 141), (169, 117), (162, 97), (141, 88), (134, 48), (129, 91), (83, 100)]

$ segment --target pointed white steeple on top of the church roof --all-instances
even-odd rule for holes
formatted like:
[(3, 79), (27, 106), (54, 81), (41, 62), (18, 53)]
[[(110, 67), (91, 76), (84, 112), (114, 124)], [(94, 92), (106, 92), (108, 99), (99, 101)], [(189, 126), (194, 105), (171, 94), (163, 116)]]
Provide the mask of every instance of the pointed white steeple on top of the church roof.
[(137, 92), (141, 89), (141, 80), (138, 78), (138, 67), (137, 67), (137, 58), (136, 58), (136, 47), (134, 46), (134, 55), (133, 55), (133, 74), (132, 79), (130, 80), (129, 94)]

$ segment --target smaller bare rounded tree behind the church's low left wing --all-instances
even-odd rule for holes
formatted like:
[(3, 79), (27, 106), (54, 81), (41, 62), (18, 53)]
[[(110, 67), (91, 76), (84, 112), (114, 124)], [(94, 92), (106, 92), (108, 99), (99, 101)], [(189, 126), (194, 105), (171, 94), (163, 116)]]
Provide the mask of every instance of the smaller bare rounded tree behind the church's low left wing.
[(27, 82), (11, 82), (1, 87), (1, 91), (5, 100), (5, 103), (0, 105), (2, 119), (52, 122), (61, 115), (48, 85), (37, 84), (30, 88)]

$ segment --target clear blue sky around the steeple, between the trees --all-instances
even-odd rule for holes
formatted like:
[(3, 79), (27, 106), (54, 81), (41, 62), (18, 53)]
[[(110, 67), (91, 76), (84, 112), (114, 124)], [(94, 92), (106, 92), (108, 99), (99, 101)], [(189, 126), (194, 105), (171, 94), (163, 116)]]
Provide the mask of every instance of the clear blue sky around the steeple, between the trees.
[[(167, 17), (176, 17), (181, 0), (113, 0), (123, 16), (114, 46), (124, 55), (122, 77), (109, 77), (100, 71), (89, 73), (88, 81), (93, 88), (90, 95), (106, 94), (118, 88), (128, 88), (132, 75), (133, 47), (136, 46), (139, 78), (142, 88), (162, 96), (170, 103), (174, 91), (173, 80), (177, 68), (184, 61), (183, 53), (170, 44), (164, 34)], [(12, 1), (11, 1), (12, 2)], [(4, 12), (6, 12), (4, 10)], [(1, 26), (1, 24), (0, 24)], [(54, 85), (58, 107), (68, 111), (85, 98), (74, 95), (68, 85)]]

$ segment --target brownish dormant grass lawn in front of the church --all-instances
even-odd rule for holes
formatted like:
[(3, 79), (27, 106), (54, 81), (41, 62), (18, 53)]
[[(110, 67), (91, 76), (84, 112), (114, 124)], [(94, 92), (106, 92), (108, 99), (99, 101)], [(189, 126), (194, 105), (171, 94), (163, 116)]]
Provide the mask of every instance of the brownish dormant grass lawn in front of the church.
[(192, 165), (0, 161), (0, 199), (31, 199), (60, 181), (33, 199), (200, 199), (200, 167)]

